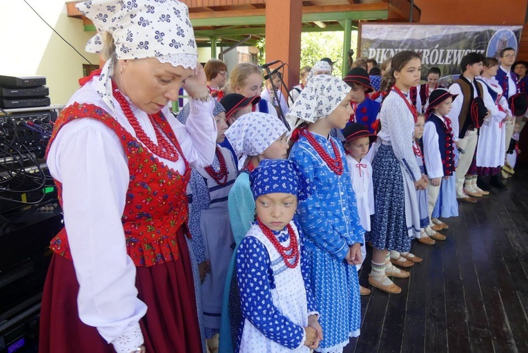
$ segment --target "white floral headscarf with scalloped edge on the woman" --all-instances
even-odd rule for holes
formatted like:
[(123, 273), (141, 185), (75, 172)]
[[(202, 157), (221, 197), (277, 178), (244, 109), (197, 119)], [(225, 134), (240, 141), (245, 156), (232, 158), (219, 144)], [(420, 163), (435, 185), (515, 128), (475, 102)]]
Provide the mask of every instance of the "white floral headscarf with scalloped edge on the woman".
[[(155, 57), (162, 63), (196, 68), (198, 51), (189, 11), (177, 0), (94, 0), (77, 3), (77, 8), (91, 19), (99, 32), (87, 44), (90, 53), (104, 45), (102, 33), (112, 35), (117, 59)], [(101, 42), (101, 43), (99, 43)], [(111, 79), (114, 60), (106, 62), (97, 93), (114, 107)]]

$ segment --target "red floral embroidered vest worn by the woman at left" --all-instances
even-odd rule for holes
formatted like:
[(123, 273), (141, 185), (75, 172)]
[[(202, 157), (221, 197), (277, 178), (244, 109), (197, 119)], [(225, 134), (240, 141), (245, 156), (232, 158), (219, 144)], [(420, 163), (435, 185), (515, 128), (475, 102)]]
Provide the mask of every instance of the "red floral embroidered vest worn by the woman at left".
[[(186, 197), (187, 183), (190, 178), (188, 162), (185, 161), (184, 175), (169, 169), (103, 108), (77, 102), (68, 106), (55, 122), (48, 151), (64, 125), (86, 117), (99, 120), (119, 136), (128, 160), (130, 182), (126, 192), (124, 213), (121, 216), (127, 254), (137, 267), (153, 266), (176, 260), (179, 257), (177, 231), (180, 227), (186, 227), (188, 219)], [(163, 115), (160, 118), (162, 122), (166, 122)], [(172, 129), (168, 124), (162, 124), (160, 127), (175, 144), (180, 158), (184, 158)], [(62, 206), (62, 185), (57, 180), (55, 184), (57, 184), (59, 202)], [(50, 249), (65, 258), (72, 259), (66, 228), (61, 229), (52, 239)]]

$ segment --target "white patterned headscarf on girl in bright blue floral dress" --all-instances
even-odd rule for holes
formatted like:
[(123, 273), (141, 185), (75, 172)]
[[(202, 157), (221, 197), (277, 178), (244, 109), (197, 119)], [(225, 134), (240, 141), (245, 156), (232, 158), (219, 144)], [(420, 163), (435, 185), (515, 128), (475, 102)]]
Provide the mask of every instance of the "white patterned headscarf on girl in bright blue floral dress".
[(302, 122), (316, 122), (327, 117), (350, 93), (350, 86), (338, 77), (317, 75), (306, 84), (286, 114), (292, 131)]

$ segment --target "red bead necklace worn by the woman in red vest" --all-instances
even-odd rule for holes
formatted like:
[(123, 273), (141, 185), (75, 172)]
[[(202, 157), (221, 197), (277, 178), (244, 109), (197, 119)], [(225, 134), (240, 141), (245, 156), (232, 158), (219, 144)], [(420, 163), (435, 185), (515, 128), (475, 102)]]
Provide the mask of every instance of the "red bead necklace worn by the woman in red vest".
[(159, 113), (156, 114), (157, 119), (155, 115), (148, 114), (148, 120), (150, 120), (150, 123), (154, 128), (154, 132), (159, 144), (158, 146), (153, 142), (153, 140), (150, 140), (150, 137), (148, 137), (148, 135), (145, 133), (139, 124), (137, 117), (135, 117), (134, 113), (132, 112), (130, 104), (128, 104), (124, 95), (117, 89), (117, 85), (114, 81), (112, 81), (112, 90), (115, 100), (117, 100), (119, 106), (121, 106), (121, 109), (123, 110), (123, 113), (125, 113), (128, 122), (134, 128), (138, 140), (141, 141), (155, 155), (159, 155), (159, 157), (164, 158), (165, 160), (170, 160), (170, 162), (176, 162), (179, 159), (177, 149), (172, 143), (170, 143), (170, 141), (166, 139), (166, 137), (161, 131), (159, 131), (159, 128), (157, 127), (157, 120), (160, 120)]

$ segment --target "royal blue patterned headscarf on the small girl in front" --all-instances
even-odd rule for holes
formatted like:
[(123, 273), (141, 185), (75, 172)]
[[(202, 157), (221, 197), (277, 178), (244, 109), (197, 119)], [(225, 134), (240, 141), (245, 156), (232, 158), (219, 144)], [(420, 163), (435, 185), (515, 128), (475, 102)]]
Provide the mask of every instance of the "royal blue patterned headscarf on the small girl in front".
[(255, 200), (268, 193), (290, 193), (298, 200), (305, 200), (312, 190), (308, 182), (291, 160), (262, 160), (249, 175)]

